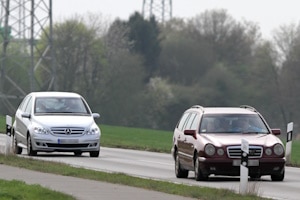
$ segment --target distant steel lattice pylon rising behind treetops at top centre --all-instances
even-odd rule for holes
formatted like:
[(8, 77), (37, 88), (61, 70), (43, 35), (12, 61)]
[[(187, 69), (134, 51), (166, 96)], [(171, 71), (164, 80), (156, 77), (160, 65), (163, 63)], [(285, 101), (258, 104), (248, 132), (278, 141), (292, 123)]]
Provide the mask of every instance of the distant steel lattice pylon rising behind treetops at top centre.
[(142, 14), (164, 23), (172, 18), (172, 0), (144, 0)]

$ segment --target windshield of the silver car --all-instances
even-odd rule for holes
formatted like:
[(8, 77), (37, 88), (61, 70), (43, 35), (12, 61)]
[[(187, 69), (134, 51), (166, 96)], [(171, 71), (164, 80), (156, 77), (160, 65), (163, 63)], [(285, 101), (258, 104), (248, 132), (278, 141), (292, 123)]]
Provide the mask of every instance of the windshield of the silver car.
[(35, 114), (78, 113), (90, 114), (81, 98), (38, 97), (35, 100)]

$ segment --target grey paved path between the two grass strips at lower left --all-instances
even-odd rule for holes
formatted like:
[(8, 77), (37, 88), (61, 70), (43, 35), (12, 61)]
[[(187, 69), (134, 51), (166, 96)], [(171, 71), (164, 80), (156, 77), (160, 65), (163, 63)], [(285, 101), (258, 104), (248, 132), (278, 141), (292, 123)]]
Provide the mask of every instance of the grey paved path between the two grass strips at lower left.
[[(0, 134), (0, 153), (7, 153), (6, 138)], [(25, 153), (25, 151), (24, 151)], [(48, 154), (53, 158), (53, 155)], [(68, 156), (68, 155), (67, 155)], [(55, 157), (55, 156), (54, 156)], [(60, 158), (66, 158), (65, 155)], [(73, 157), (73, 156), (72, 156)], [(39, 157), (37, 157), (39, 158)], [(78, 159), (80, 160), (80, 159)], [(125, 185), (110, 184), (99, 181), (86, 180), (68, 176), (41, 173), (23, 168), (11, 167), (0, 164), (0, 179), (20, 180), (27, 184), (39, 184), (43, 187), (50, 188), (74, 196), (78, 200), (112, 200), (112, 199), (143, 199), (143, 200), (192, 200), (176, 195), (165, 194)]]

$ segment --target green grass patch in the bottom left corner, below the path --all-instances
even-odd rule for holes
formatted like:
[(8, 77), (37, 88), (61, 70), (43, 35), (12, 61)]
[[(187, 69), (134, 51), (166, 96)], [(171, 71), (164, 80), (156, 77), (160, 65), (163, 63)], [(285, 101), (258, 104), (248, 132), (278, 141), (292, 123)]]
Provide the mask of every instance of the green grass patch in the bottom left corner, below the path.
[(52, 191), (40, 185), (28, 185), (25, 182), (0, 179), (1, 200), (75, 200), (74, 197), (61, 192)]

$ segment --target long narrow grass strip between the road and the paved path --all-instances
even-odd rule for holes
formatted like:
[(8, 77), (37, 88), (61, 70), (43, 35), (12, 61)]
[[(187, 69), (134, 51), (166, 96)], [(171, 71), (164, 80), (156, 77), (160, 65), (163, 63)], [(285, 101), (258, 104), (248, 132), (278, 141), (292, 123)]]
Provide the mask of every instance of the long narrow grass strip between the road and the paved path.
[[(106, 172), (94, 171), (94, 170), (89, 170), (84, 168), (75, 168), (63, 163), (28, 159), (28, 158), (18, 157), (15, 155), (10, 155), (10, 156), (0, 155), (0, 164), (6, 164), (6, 165), (11, 165), (11, 166), (21, 167), (21, 168), (26, 168), (26, 169), (41, 171), (46, 173), (60, 174), (64, 176), (72, 176), (72, 177), (91, 179), (95, 181), (123, 184), (127, 186), (144, 188), (144, 189), (164, 192), (168, 194), (180, 195), (180, 196), (203, 199), (203, 200), (204, 199), (205, 200), (265, 199), (265, 198), (258, 197), (256, 196), (256, 194), (252, 194), (251, 192), (248, 195), (240, 195), (227, 189), (214, 189), (208, 187), (175, 184), (166, 181), (157, 181), (151, 179), (131, 177), (129, 175), (122, 174), (122, 173), (106, 173)], [(29, 192), (27, 191), (26, 193), (31, 193), (31, 190), (36, 190), (36, 188), (30, 189)], [(31, 198), (24, 198), (24, 199), (27, 200)]]

